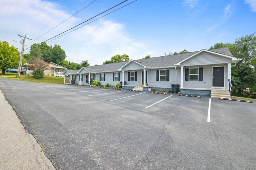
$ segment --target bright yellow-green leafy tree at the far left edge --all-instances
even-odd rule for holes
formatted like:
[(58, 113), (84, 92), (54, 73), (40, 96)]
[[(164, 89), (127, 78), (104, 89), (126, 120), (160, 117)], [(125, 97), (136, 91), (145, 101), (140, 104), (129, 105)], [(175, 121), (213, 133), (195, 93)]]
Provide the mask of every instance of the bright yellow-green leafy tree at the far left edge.
[[(0, 68), (2, 74), (5, 73), (6, 69), (18, 68), (20, 62), (20, 52), (14, 46), (9, 46), (8, 42), (0, 41)], [(23, 59), (22, 63), (25, 62)]]

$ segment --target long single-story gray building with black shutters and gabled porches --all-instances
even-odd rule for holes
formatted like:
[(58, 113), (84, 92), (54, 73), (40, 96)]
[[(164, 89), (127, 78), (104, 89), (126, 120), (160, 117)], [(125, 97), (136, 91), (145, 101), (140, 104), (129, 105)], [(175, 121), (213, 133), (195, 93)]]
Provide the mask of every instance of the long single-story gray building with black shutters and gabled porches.
[(240, 60), (233, 57), (226, 47), (202, 49), (184, 54), (82, 67), (76, 73), (76, 83), (90, 84), (88, 80), (97, 79), (101, 85), (116, 85), (121, 81), (122, 88), (132, 89), (143, 84), (144, 90), (150, 87), (165, 91), (171, 89), (172, 84), (179, 84), (181, 93), (210, 95), (215, 89), (229, 89), (232, 63), (235, 65)]

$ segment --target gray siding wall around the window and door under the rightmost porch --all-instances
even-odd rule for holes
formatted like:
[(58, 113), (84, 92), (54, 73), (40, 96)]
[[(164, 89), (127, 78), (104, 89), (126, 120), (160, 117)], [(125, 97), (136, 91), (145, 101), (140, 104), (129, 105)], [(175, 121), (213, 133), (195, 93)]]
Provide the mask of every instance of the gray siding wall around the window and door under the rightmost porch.
[[(212, 88), (212, 67), (225, 67), (225, 88), (228, 87), (228, 68), (225, 64), (216, 65), (196, 65), (191, 67), (184, 67), (183, 70), (183, 87), (184, 88)], [(185, 81), (185, 69), (203, 67), (203, 81)]]

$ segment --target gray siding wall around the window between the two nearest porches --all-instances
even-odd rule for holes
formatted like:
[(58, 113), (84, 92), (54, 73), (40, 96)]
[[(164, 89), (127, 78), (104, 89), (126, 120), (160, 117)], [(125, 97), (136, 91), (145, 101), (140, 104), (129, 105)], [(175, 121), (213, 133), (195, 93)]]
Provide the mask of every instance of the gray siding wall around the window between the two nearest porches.
[(169, 69), (170, 70), (169, 81), (156, 81), (156, 70), (159, 70), (159, 69), (148, 70), (148, 85), (150, 87), (171, 88), (172, 84), (175, 84), (174, 68)]

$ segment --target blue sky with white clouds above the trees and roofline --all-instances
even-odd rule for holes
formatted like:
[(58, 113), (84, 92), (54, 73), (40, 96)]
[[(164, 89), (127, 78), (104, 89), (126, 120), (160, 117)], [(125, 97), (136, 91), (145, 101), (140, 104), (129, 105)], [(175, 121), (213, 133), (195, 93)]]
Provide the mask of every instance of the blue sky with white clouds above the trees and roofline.
[[(44, 42), (123, 1), (1, 0), (0, 41), (21, 51), (22, 38), (18, 34), (26, 35), (32, 39), (26, 40), (24, 53), (29, 53), (26, 48), (33, 43)], [(82, 28), (46, 43), (60, 45), (68, 61), (88, 60), (90, 65), (100, 65), (117, 54), (142, 59), (183, 49), (199, 51), (218, 42), (233, 43), (236, 38), (256, 32), (256, 0), (133, 1), (128, 0), (88, 22), (98, 20), (85, 22), (87, 25)], [(112, 12), (122, 6), (125, 7)], [(108, 15), (102, 17), (105, 14)]]

